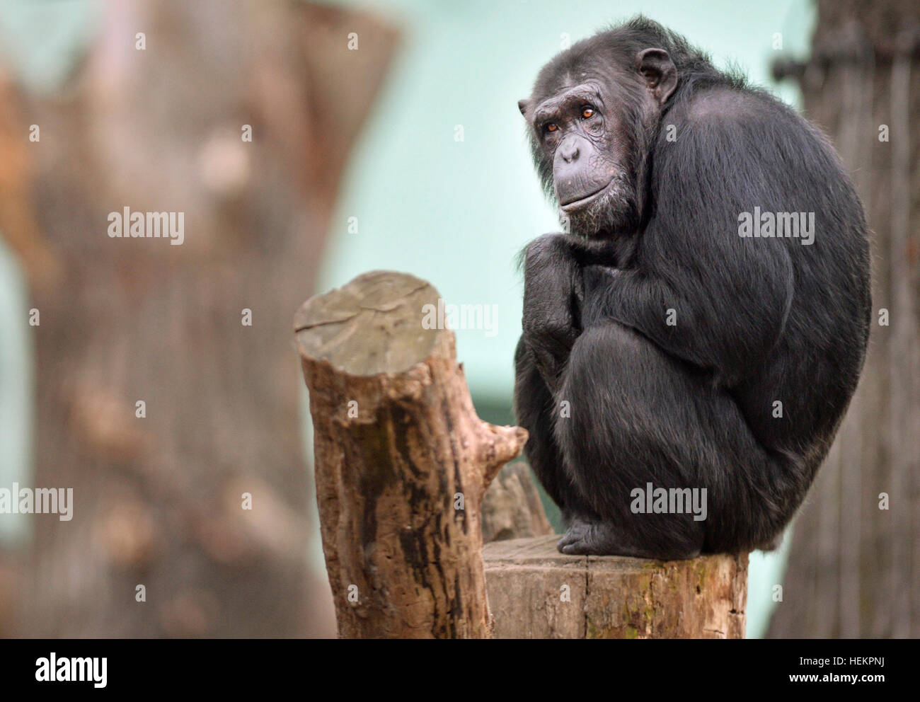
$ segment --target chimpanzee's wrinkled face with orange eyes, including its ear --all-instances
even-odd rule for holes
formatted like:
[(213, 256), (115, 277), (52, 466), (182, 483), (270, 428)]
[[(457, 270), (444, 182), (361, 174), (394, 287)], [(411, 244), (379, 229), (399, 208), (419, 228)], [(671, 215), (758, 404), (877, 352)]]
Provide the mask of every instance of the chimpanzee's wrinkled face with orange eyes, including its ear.
[(661, 49), (613, 58), (598, 61), (592, 54), (549, 63), (531, 98), (518, 103), (560, 220), (570, 233), (592, 239), (638, 228), (647, 201), (646, 155), (661, 107), (677, 85), (674, 64)]

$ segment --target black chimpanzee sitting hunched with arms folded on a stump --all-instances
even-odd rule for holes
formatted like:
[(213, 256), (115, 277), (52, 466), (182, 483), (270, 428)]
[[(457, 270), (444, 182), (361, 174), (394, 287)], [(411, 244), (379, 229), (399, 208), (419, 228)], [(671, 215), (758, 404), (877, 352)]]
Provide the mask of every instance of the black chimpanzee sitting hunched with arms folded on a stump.
[(867, 226), (834, 148), (645, 17), (559, 53), (518, 105), (569, 232), (523, 251), (515, 353), (559, 550), (776, 547), (868, 341)]

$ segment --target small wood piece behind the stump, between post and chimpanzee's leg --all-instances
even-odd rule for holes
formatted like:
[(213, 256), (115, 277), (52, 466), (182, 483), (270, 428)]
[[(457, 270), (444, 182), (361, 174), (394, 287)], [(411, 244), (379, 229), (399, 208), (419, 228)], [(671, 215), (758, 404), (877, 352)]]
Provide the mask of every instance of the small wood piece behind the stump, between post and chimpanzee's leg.
[(482, 541), (552, 534), (540, 493), (523, 461), (504, 466), (482, 501)]

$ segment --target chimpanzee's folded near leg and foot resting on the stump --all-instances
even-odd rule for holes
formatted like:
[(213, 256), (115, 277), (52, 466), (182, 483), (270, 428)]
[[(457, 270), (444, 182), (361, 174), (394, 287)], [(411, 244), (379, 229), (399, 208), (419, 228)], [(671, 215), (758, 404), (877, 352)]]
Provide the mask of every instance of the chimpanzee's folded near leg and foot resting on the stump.
[[(612, 321), (584, 329), (556, 397), (564, 399), (571, 416), (554, 416), (556, 445), (591, 507), (559, 541), (564, 553), (693, 558), (759, 546), (788, 521), (777, 505), (800, 488), (788, 478), (794, 471), (786, 459), (754, 439), (708, 374), (636, 331)], [(637, 503), (633, 490), (644, 495), (649, 483), (706, 489), (706, 518), (696, 521), (690, 505), (684, 513), (638, 512), (649, 503)], [(707, 539), (711, 534), (719, 541)]]

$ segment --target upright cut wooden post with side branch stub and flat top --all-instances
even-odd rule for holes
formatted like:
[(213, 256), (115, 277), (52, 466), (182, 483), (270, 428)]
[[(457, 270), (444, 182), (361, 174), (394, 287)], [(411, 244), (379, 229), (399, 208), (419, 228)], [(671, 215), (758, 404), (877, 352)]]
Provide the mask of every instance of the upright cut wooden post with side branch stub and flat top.
[(343, 638), (490, 636), (480, 505), (527, 432), (477, 418), (453, 332), (422, 325), (438, 301), (374, 271), (294, 317)]

